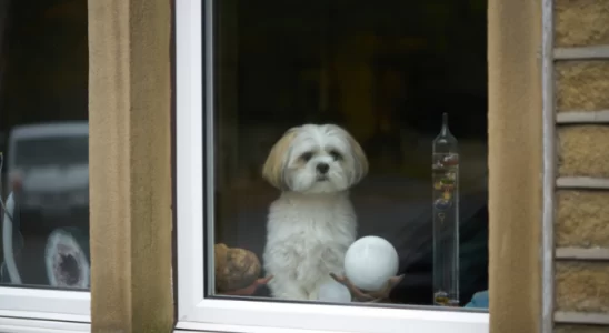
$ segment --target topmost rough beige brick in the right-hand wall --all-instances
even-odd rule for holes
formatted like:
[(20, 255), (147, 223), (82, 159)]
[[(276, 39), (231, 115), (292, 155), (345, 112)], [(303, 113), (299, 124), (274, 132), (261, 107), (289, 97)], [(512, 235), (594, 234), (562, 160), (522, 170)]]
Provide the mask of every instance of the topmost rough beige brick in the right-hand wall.
[(556, 0), (557, 47), (609, 44), (609, 0)]

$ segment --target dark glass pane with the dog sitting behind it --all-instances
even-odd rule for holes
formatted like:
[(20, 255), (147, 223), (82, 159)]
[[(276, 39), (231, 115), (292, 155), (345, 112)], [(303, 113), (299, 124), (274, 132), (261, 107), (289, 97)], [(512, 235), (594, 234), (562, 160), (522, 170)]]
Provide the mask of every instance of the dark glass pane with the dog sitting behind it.
[(487, 307), (486, 7), (214, 1), (210, 294)]

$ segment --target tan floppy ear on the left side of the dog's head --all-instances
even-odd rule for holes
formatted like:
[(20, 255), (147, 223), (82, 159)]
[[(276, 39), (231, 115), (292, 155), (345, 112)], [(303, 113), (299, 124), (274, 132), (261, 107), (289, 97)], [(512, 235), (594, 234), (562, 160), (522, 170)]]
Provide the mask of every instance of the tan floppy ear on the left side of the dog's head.
[(299, 129), (300, 128), (289, 129), (283, 137), (274, 143), (271, 152), (267, 157), (264, 165), (262, 167), (262, 178), (279, 190), (287, 188), (283, 179), (283, 170), (286, 168), (284, 164), (287, 162), (292, 142), (298, 135)]

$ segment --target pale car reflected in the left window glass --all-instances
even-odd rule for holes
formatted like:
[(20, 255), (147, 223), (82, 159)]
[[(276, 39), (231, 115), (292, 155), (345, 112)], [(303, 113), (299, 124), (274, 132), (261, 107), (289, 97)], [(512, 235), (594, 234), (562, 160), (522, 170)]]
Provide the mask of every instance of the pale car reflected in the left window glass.
[(7, 172), (23, 234), (63, 226), (88, 231), (87, 122), (14, 127), (8, 140)]

